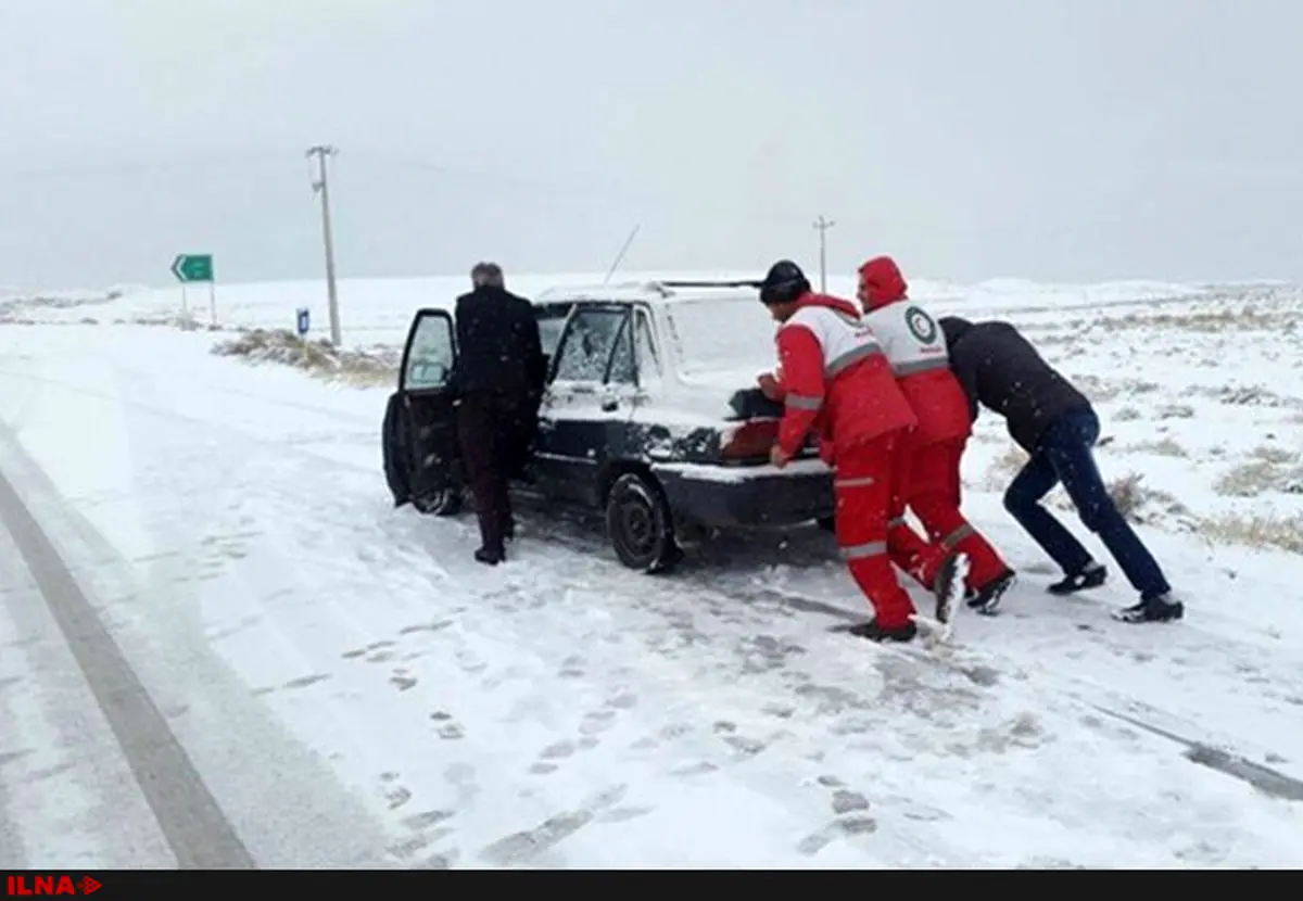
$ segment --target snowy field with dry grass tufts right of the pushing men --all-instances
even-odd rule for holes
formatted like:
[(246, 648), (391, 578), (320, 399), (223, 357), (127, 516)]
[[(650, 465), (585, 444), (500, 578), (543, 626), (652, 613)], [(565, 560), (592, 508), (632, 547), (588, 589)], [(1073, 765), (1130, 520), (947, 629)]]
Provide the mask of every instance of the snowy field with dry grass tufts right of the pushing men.
[[(1117, 430), (1098, 456), (1106, 473), (1130, 470), (1108, 478), (1130, 521), (1303, 553), (1303, 292), (1250, 286), (1184, 309), (1018, 319)], [(973, 487), (1003, 492), (1027, 454), (1001, 447), (988, 460)], [(1062, 488), (1045, 503), (1071, 509)]]

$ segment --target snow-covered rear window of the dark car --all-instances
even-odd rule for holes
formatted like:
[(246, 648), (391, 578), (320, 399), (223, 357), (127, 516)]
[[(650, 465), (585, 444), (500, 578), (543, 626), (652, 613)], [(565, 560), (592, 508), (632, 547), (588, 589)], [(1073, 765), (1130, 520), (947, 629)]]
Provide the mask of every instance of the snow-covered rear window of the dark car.
[(666, 311), (685, 375), (774, 368), (777, 326), (756, 298), (681, 301)]

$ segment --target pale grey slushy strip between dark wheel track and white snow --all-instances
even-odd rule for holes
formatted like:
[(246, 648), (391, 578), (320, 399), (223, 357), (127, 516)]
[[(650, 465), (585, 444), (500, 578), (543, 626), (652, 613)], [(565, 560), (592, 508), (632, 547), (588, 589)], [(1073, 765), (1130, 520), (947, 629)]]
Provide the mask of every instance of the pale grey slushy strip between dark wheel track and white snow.
[[(195, 767), (215, 780), (212, 793), (233, 811), (259, 865), (390, 865), (378, 824), (334, 771), (263, 708), (202, 633), (176, 626), (173, 586), (154, 582), (150, 590), (141, 583), (138, 562), (126, 560), (63, 499), (3, 426), (0, 450), (4, 471), (22, 484), (33, 514), (85, 573), (83, 585), (100, 602), (156, 704), (185, 711), (173, 734)], [(249, 766), (251, 754), (257, 766)]]

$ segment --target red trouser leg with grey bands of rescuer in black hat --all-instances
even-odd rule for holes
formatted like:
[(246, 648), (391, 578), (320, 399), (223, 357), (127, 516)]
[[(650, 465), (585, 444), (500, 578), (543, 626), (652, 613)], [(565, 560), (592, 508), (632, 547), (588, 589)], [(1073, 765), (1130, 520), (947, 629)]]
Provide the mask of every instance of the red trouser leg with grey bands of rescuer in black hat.
[[(851, 578), (873, 607), (883, 629), (909, 622), (913, 600), (896, 581), (887, 556), (887, 523), (900, 495), (895, 484), (904, 430), (837, 449), (833, 490), (837, 493), (837, 543)], [(917, 538), (917, 536), (915, 536)]]

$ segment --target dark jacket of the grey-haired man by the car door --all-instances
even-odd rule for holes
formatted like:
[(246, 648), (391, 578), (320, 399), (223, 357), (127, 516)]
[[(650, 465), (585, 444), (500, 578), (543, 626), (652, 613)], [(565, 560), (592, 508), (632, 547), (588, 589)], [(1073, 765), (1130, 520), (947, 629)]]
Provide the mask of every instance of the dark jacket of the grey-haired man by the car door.
[(529, 301), (503, 288), (477, 288), (457, 298), (456, 318), (460, 393), (542, 395), (547, 363)]

